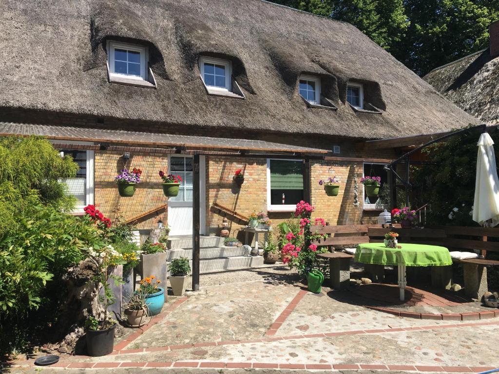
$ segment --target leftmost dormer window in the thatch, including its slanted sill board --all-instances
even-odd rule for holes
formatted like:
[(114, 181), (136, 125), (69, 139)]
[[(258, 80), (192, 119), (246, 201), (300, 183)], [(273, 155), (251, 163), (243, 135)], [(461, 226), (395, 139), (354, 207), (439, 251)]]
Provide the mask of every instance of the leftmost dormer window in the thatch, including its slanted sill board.
[(107, 54), (109, 81), (155, 87), (154, 77), (148, 66), (147, 52), (147, 48), (141, 45), (109, 41)]

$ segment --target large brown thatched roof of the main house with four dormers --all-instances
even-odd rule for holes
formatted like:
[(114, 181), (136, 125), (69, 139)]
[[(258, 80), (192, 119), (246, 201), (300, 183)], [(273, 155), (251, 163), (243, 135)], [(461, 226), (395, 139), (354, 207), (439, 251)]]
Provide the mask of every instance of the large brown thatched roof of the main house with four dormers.
[[(4, 0), (0, 22), (0, 106), (368, 139), (476, 123), (354, 26), (261, 0)], [(108, 39), (149, 47), (157, 89), (107, 81)], [(199, 54), (230, 58), (246, 99), (207, 95)], [(303, 72), (336, 112), (305, 105)], [(345, 105), (349, 79), (382, 115)]]

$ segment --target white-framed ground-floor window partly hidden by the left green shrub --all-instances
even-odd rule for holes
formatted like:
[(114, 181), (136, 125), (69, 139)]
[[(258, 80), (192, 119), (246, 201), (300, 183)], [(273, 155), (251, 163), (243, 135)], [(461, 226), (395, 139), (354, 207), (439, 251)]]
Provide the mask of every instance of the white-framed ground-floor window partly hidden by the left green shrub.
[[(75, 142), (69, 140), (51, 140), (50, 142), (93, 145), (91, 142)], [(72, 212), (82, 213), (85, 206), (88, 204), (94, 204), (95, 151), (81, 149), (59, 149), (59, 152), (62, 157), (70, 155), (73, 158), (73, 161), (80, 167), (75, 178), (61, 179), (59, 182), (66, 184), (68, 187), (68, 193), (76, 198), (76, 204)]]

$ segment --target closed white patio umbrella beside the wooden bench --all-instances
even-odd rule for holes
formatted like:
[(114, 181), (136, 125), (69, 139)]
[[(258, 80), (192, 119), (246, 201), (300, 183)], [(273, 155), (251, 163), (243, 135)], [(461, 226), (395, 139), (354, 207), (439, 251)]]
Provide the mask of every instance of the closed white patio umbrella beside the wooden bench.
[(482, 226), (499, 223), (499, 179), (494, 141), (488, 133), (483, 133), (478, 141), (473, 220)]

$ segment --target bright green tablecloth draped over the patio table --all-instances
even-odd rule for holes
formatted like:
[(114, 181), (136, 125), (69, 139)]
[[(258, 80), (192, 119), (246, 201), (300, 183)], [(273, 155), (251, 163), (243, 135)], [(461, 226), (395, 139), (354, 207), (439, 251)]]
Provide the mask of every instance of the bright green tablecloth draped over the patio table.
[(425, 244), (399, 243), (402, 248), (387, 248), (383, 243), (357, 246), (355, 261), (374, 265), (447, 266), (451, 255), (445, 247)]

